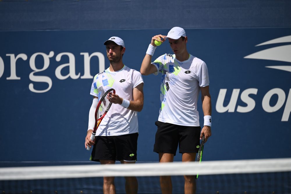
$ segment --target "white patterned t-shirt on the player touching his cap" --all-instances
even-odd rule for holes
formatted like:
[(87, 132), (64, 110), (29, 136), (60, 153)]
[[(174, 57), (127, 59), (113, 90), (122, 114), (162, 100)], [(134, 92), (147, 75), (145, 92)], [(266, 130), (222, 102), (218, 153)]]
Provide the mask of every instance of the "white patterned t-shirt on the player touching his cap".
[(175, 55), (164, 54), (153, 65), (161, 79), (159, 121), (182, 126), (200, 126), (197, 100), (200, 87), (209, 85), (207, 66), (201, 59), (189, 55), (179, 61)]

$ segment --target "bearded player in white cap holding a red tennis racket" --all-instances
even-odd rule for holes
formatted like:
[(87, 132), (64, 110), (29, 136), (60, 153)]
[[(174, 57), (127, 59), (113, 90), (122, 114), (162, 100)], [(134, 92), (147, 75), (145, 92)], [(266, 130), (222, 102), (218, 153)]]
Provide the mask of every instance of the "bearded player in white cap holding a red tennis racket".
[[(110, 66), (104, 72), (95, 75), (90, 94), (93, 103), (89, 111), (89, 123), (85, 147), (94, 145), (91, 154), (92, 161), (101, 164), (135, 163), (138, 138), (137, 112), (143, 108), (143, 79), (141, 73), (123, 64), (125, 52), (124, 41), (119, 37), (111, 37), (104, 42)], [(116, 94), (109, 93), (113, 103), (108, 113), (100, 123), (94, 141), (90, 136), (95, 124), (95, 109), (98, 95), (110, 88)], [(114, 177), (104, 177), (103, 192), (115, 193)], [(125, 177), (125, 191), (137, 193), (136, 177)]]

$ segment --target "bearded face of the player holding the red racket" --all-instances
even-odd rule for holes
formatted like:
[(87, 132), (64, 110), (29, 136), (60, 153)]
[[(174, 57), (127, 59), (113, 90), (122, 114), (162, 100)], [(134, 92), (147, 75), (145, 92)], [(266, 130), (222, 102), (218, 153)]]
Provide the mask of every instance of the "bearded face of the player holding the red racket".
[(106, 53), (110, 63), (118, 63), (122, 58), (124, 50), (124, 48), (121, 49), (121, 46), (115, 42), (108, 42), (106, 45)]

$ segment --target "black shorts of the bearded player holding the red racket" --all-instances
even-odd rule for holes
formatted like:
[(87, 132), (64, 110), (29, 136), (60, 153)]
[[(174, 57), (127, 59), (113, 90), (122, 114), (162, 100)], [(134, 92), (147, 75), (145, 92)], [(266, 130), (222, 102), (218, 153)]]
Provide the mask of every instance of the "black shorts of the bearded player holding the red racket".
[(95, 136), (91, 160), (136, 161), (137, 138), (139, 134), (122, 136)]

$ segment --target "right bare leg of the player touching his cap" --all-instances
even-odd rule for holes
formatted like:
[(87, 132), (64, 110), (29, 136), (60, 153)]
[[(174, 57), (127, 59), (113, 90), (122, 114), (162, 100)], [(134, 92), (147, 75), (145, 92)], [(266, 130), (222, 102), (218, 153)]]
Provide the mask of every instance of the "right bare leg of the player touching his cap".
[[(196, 153), (183, 153), (182, 162), (195, 161)], [(194, 175), (184, 175), (185, 185), (184, 193), (185, 194), (195, 194), (196, 193), (196, 181)]]

